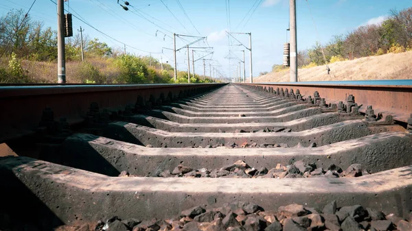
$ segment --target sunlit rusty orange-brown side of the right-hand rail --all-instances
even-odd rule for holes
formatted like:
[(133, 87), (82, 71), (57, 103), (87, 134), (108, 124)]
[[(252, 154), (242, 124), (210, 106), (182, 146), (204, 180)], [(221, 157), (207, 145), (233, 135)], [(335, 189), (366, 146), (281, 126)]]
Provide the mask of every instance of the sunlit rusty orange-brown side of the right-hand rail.
[(316, 90), (326, 103), (337, 104), (345, 102), (348, 95), (354, 95), (358, 105), (363, 105), (360, 112), (365, 112), (367, 106), (374, 107), (376, 113), (391, 114), (396, 121), (407, 122), (412, 113), (412, 86), (397, 85), (338, 85), (338, 84), (247, 84), (266, 88), (299, 89), (303, 97), (312, 95)]

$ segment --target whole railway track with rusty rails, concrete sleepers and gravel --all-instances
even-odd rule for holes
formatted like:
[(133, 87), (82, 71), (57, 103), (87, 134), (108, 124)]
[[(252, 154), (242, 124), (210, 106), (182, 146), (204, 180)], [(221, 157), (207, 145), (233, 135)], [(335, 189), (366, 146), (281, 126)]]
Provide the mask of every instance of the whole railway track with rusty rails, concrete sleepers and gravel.
[(0, 230), (412, 229), (408, 87), (0, 93)]

